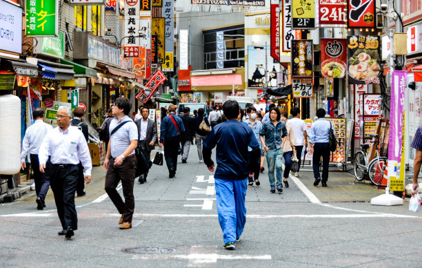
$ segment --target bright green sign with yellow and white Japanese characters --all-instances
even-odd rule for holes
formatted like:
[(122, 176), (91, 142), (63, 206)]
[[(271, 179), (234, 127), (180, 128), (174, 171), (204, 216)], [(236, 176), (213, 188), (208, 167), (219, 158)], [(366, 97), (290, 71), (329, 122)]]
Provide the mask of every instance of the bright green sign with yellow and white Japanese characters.
[(57, 0), (26, 0), (26, 36), (57, 36), (58, 6)]

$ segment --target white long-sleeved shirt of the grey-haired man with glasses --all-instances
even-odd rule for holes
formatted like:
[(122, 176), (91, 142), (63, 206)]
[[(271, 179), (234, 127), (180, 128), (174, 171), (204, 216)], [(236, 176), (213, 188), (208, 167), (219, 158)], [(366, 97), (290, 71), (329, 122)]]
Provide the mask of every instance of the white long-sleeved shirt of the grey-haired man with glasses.
[(79, 131), (76, 126), (69, 125), (66, 131), (57, 127), (47, 133), (39, 148), (40, 165), (46, 164), (48, 155), (51, 155), (52, 164), (79, 164), (81, 162), (85, 174), (91, 175), (90, 150), (82, 131)]

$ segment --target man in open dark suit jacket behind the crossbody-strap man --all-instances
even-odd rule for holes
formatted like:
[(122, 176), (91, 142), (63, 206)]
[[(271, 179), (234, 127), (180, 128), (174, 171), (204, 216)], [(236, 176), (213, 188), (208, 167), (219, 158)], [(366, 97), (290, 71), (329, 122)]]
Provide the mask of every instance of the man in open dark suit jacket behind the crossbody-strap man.
[(142, 118), (136, 120), (135, 124), (137, 124), (138, 127), (139, 143), (141, 145), (142, 154), (145, 156), (149, 165), (147, 171), (139, 175), (138, 182), (143, 184), (143, 182), (146, 182), (148, 171), (152, 166), (151, 151), (154, 150), (154, 143), (157, 140), (157, 125), (154, 120), (148, 118), (150, 109), (142, 107), (141, 115)]

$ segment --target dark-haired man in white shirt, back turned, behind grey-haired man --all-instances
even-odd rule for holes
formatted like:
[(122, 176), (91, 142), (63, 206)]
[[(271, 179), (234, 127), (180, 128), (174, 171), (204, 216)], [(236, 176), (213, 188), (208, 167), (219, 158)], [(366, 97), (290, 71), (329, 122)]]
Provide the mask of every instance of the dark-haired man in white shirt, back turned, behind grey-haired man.
[(21, 151), (22, 169), (26, 169), (26, 155), (28, 153), (30, 155), (30, 162), (34, 171), (35, 193), (37, 193), (37, 209), (40, 210), (46, 207), (44, 200), (50, 187), (50, 161), (47, 161), (45, 173), (39, 171), (38, 161), (39, 146), (41, 146), (41, 142), (43, 142), (48, 131), (52, 129), (51, 125), (44, 123), (44, 114), (45, 112), (42, 108), (36, 108), (32, 111), (32, 117), (35, 122), (26, 129)]

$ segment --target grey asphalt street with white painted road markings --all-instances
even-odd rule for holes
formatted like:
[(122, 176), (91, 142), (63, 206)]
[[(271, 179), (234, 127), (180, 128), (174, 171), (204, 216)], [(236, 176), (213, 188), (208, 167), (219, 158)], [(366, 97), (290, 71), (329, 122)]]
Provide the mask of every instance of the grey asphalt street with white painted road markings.
[(175, 178), (154, 165), (148, 182), (135, 182), (129, 230), (119, 229), (104, 176), (102, 167), (94, 168), (88, 194), (76, 198), (79, 229), (70, 240), (57, 235), (51, 191), (43, 211), (33, 191), (1, 204), (1, 267), (418, 267), (422, 260), (420, 213), (410, 213), (408, 202), (374, 207), (363, 195), (350, 202), (347, 187), (368, 198), (382, 191), (353, 184), (348, 173), (330, 173), (323, 189), (310, 186), (312, 175), (303, 171), (281, 194), (270, 193), (261, 173), (261, 187), (248, 188), (248, 219), (236, 251), (222, 247), (214, 180), (196, 147), (187, 164), (179, 158)]

